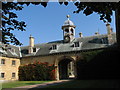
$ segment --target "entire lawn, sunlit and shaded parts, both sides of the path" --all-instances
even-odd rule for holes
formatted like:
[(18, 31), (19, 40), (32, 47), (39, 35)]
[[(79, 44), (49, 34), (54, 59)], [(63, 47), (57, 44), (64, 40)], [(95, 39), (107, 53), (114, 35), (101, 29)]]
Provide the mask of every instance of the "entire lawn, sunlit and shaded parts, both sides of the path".
[[(2, 88), (14, 88), (19, 86), (42, 84), (49, 81), (12, 81), (2, 84)], [(118, 80), (72, 80), (47, 88), (119, 88)], [(37, 87), (36, 87), (37, 88)], [(31, 89), (32, 90), (32, 89)], [(34, 90), (34, 88), (33, 88)]]

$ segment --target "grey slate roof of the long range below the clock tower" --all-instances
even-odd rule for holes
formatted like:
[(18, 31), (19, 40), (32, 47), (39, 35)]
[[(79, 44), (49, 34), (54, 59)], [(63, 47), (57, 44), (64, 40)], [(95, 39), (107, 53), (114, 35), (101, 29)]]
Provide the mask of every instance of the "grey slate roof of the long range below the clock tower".
[[(112, 37), (114, 38), (114, 42), (116, 42), (115, 33), (112, 34)], [(80, 46), (74, 47), (75, 42), (79, 42)], [(53, 45), (57, 45), (56, 50), (52, 50)], [(43, 43), (43, 44), (36, 44), (34, 46), (34, 48), (37, 48), (36, 52), (32, 54), (22, 53), (22, 56), (26, 57), (26, 56), (49, 55), (53, 53), (105, 48), (108, 46), (109, 44), (108, 44), (107, 34), (104, 34), (104, 35), (75, 38), (71, 43), (63, 43), (63, 40), (60, 40), (60, 41)], [(29, 46), (21, 47), (21, 50), (28, 50), (28, 49)]]

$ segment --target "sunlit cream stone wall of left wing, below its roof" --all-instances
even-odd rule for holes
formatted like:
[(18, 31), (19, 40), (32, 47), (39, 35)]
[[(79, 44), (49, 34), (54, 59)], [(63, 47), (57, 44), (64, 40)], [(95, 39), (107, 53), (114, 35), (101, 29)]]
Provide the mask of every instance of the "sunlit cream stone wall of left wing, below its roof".
[[(5, 64), (1, 64), (2, 59), (5, 59)], [(12, 65), (12, 60), (15, 61), (15, 65)], [(19, 66), (20, 59), (0, 57), (0, 80), (18, 80)], [(4, 78), (1, 78), (1, 73), (5, 73)], [(15, 73), (15, 77), (12, 77), (12, 73)]]

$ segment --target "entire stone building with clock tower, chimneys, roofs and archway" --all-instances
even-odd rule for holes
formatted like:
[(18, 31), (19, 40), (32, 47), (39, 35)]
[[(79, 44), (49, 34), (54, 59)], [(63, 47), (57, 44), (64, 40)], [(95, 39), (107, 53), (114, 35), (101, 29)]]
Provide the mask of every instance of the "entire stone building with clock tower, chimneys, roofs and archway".
[(94, 36), (83, 37), (80, 32), (80, 37), (75, 38), (76, 26), (69, 17), (68, 15), (62, 26), (63, 40), (34, 44), (34, 37), (30, 35), (28, 46), (5, 46), (1, 43), (0, 80), (17, 80), (18, 67), (35, 61), (54, 64), (57, 67), (56, 80), (77, 77), (75, 62), (81, 58), (81, 52), (107, 48), (116, 42), (116, 34), (112, 32), (108, 23), (107, 34), (96, 33)]

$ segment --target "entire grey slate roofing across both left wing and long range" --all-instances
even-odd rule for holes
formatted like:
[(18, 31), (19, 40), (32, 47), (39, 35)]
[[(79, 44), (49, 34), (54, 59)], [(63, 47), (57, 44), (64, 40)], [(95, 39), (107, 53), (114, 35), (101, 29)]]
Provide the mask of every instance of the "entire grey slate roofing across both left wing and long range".
[[(113, 41), (116, 42), (115, 33), (112, 34), (112, 38)], [(79, 42), (79, 47), (74, 47), (75, 42)], [(57, 45), (57, 49), (52, 50), (53, 45)], [(59, 40), (48, 43), (35, 44), (34, 48), (36, 48), (36, 52), (33, 52), (32, 54), (28, 53), (29, 46), (17, 47), (17, 46), (9, 45), (7, 46), (7, 50), (3, 50), (3, 47), (5, 47), (5, 45), (0, 43), (0, 54), (2, 56), (20, 58), (27, 56), (40, 56), (40, 55), (49, 55), (49, 54), (62, 53), (62, 52), (106, 48), (108, 46), (109, 44), (108, 44), (107, 34), (104, 34), (104, 35), (75, 38), (70, 43), (64, 43), (63, 40)]]

